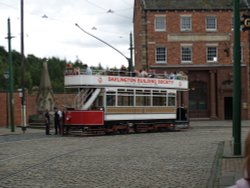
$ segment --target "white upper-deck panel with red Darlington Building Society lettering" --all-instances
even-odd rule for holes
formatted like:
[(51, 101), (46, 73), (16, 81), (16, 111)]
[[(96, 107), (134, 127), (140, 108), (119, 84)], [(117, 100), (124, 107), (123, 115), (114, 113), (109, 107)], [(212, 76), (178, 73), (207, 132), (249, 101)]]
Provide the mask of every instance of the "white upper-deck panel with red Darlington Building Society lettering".
[(187, 90), (188, 81), (148, 77), (129, 77), (112, 75), (65, 75), (65, 88), (104, 88), (104, 87), (141, 87)]

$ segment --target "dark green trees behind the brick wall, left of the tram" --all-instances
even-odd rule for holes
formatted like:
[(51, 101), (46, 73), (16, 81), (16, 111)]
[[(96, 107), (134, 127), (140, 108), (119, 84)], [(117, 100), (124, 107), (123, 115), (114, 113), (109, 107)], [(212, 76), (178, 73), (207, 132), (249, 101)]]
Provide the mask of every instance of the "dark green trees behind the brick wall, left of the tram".
[[(40, 86), (42, 63), (45, 58), (38, 58), (29, 54), (25, 57), (25, 75), (24, 75), (24, 87), (28, 89), (28, 92), (32, 91), (33, 87)], [(66, 64), (72, 63), (67, 60), (61, 60), (56, 57), (47, 59), (48, 70), (53, 91), (55, 93), (64, 92), (64, 71)], [(13, 80), (14, 90), (21, 88), (21, 54), (15, 50), (12, 51), (13, 62)], [(83, 69), (83, 63), (80, 60), (76, 60), (73, 63), (73, 67), (80, 67)], [(93, 70), (103, 70), (101, 63), (97, 67), (91, 66)], [(107, 67), (108, 68), (108, 67)], [(5, 91), (7, 88), (7, 80), (4, 78), (4, 72), (9, 69), (9, 53), (0, 46), (0, 91)]]

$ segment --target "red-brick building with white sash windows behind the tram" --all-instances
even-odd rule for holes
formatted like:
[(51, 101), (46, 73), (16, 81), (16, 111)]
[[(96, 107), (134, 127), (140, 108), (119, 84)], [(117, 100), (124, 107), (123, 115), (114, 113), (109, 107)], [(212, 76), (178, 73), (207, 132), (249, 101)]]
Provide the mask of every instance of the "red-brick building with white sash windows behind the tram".
[[(181, 102), (190, 118), (231, 119), (232, 0), (135, 0), (135, 68), (183, 71), (189, 92)], [(240, 3), (246, 12), (247, 0)], [(250, 119), (250, 34), (241, 32), (242, 118)]]

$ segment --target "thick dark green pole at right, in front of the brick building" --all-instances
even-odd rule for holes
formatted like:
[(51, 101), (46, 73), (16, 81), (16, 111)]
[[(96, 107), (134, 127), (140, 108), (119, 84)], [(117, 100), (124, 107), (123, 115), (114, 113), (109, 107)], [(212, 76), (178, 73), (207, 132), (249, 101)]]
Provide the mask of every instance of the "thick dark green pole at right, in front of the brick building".
[(241, 62), (240, 62), (240, 4), (234, 0), (234, 66), (233, 66), (233, 148), (241, 155)]

